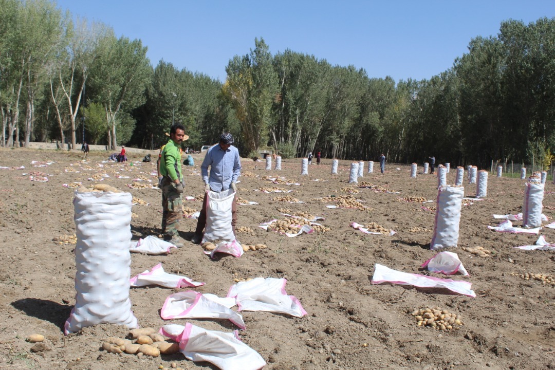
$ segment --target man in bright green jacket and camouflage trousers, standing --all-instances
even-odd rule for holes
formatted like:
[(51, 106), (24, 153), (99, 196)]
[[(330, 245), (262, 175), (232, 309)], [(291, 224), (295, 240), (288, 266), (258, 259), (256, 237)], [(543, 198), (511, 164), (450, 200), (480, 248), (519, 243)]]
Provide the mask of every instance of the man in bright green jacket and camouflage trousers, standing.
[(183, 239), (179, 236), (177, 224), (183, 217), (183, 174), (181, 173), (181, 143), (189, 139), (185, 127), (179, 123), (171, 126), (170, 140), (160, 156), (160, 185), (162, 185), (162, 233), (164, 239), (180, 248)]

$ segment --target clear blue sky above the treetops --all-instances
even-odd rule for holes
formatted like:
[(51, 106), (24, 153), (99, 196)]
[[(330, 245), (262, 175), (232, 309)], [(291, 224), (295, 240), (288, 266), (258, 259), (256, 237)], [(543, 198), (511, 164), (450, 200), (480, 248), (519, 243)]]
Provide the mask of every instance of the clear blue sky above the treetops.
[(73, 16), (139, 38), (153, 66), (225, 80), (234, 55), (255, 37), (274, 55), (291, 49), (332, 65), (364, 68), (396, 82), (429, 79), (452, 67), (477, 36), (496, 36), (502, 21), (555, 17), (554, 0), (57, 0)]

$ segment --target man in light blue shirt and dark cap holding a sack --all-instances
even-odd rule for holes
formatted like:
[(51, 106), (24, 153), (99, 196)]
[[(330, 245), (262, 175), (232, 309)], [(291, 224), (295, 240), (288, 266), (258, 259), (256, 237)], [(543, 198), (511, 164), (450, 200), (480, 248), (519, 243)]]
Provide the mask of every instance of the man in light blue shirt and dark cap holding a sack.
[[(233, 189), (235, 198), (231, 206), (231, 227), (233, 235), (235, 235), (235, 225), (237, 224), (237, 178), (241, 174), (241, 159), (239, 158), (239, 150), (233, 144), (233, 136), (231, 134), (221, 134), (220, 143), (214, 145), (206, 151), (203, 164), (200, 166), (204, 180), (203, 207), (200, 210), (199, 219), (196, 222), (195, 236), (191, 241), (199, 244), (203, 239), (203, 230), (206, 226), (206, 206), (208, 205), (208, 192), (225, 191)], [(210, 166), (210, 176), (208, 176), (208, 167)]]

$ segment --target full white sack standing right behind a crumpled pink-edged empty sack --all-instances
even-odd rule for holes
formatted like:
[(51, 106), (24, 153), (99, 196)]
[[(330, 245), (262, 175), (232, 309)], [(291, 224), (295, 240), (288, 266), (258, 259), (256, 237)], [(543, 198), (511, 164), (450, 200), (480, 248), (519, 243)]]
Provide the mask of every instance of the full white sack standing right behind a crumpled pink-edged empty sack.
[(438, 190), (431, 250), (457, 246), (463, 197), (465, 188), (462, 186), (442, 186)]

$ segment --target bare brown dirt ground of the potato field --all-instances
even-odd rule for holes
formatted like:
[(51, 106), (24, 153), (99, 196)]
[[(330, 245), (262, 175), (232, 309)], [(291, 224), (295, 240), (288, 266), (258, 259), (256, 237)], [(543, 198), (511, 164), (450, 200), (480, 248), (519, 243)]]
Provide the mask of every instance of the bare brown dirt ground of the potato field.
[[(133, 239), (158, 235), (161, 220), (161, 194), (156, 189), (129, 189), (134, 178), (155, 183), (154, 163), (104, 163), (105, 153), (90, 153), (87, 163), (80, 153), (0, 149), (0, 369), (158, 369), (172, 362), (183, 369), (215, 369), (209, 363), (187, 361), (180, 353), (158, 358), (131, 354), (112, 354), (100, 350), (108, 336), (124, 337), (128, 330), (115, 325), (98, 325), (64, 336), (63, 324), (75, 302), (74, 244), (53, 241), (74, 234), (73, 189), (62, 184), (108, 174), (103, 183), (130, 191), (149, 203), (135, 205)], [(140, 161), (143, 155), (132, 155)], [(153, 155), (155, 158), (155, 155)], [(184, 167), (184, 195), (203, 192), (200, 174), (201, 155), (195, 166)], [(32, 161), (39, 161), (34, 166)], [(38, 166), (53, 161), (46, 166)], [(266, 171), (265, 164), (245, 159), (239, 196), (259, 205), (239, 205), (239, 225), (248, 226), (255, 235), (238, 234), (243, 244), (264, 243), (267, 249), (246, 252), (240, 258), (228, 255), (216, 260), (203, 254), (200, 246), (186, 241), (185, 246), (167, 256), (132, 255), (132, 276), (159, 262), (167, 272), (179, 273), (194, 281), (206, 282), (195, 290), (225, 296), (234, 278), (287, 278), (287, 293), (299, 298), (308, 312), (295, 318), (269, 312), (241, 312), (246, 330), (241, 339), (268, 362), (266, 369), (546, 369), (555, 368), (555, 287), (541, 281), (524, 280), (521, 273), (555, 275), (555, 252), (522, 251), (514, 246), (531, 245), (537, 235), (498, 233), (487, 229), (498, 220), (493, 214), (516, 214), (523, 204), (523, 181), (490, 175), (487, 197), (463, 206), (459, 247), (453, 249), (470, 273), (454, 280), (472, 283), (476, 297), (449, 291), (420, 289), (401, 285), (372, 285), (375, 263), (410, 273), (425, 273), (420, 265), (435, 252), (429, 250), (435, 212), (422, 209), (420, 202), (397, 201), (417, 196), (435, 200), (437, 178), (418, 174), (410, 178), (410, 166), (387, 164), (386, 174), (367, 174), (368, 181), (400, 194), (358, 189), (348, 184), (349, 161), (340, 161), (339, 175), (330, 175), (331, 160), (312, 164), (309, 175), (300, 175), (300, 159), (284, 160), (282, 171)], [(376, 168), (379, 166), (376, 164)], [(421, 171), (422, 168), (420, 167)], [(36, 172), (32, 172), (36, 171)], [(79, 171), (79, 172), (75, 172)], [(378, 171), (379, 172), (379, 171)], [(116, 173), (129, 178), (115, 178)], [(29, 176), (48, 182), (30, 181)], [(276, 185), (264, 176), (285, 176), (302, 183)], [(455, 182), (455, 170), (447, 175)], [(320, 180), (320, 181), (315, 181)], [(259, 187), (283, 187), (304, 204), (271, 200), (281, 194), (253, 191)], [(314, 200), (316, 197), (346, 195), (341, 190), (354, 187), (352, 194), (364, 201), (365, 210), (336, 208)], [(544, 214), (549, 222), (555, 217), (555, 185), (548, 181), (544, 195)], [(476, 185), (465, 194), (476, 195)], [(184, 201), (200, 209), (200, 201)], [(434, 203), (425, 204), (431, 207)], [(279, 209), (304, 211), (325, 217), (321, 221), (331, 230), (286, 237), (266, 232), (261, 222), (281, 219)], [(397, 234), (367, 235), (350, 224), (376, 222)], [(182, 236), (189, 240), (196, 220), (180, 224)], [(517, 225), (520, 226), (520, 225)], [(416, 228), (416, 229), (415, 229)], [(420, 230), (419, 230), (420, 228)], [(410, 229), (412, 231), (410, 231)], [(544, 228), (548, 242), (555, 242), (555, 230)], [(461, 247), (482, 246), (492, 255), (480, 258)], [(514, 275), (513, 275), (514, 274)], [(130, 300), (142, 327), (160, 328), (167, 323), (185, 325), (185, 320), (164, 321), (159, 310), (165, 298), (178, 290), (151, 286), (132, 288)], [(462, 317), (458, 330), (438, 331), (420, 327), (410, 312), (439, 307)], [(235, 308), (236, 309), (236, 308)], [(209, 330), (230, 332), (236, 327), (225, 320), (191, 320)], [(32, 333), (46, 337), (44, 345), (27, 343)]]

